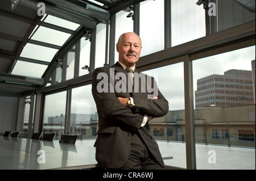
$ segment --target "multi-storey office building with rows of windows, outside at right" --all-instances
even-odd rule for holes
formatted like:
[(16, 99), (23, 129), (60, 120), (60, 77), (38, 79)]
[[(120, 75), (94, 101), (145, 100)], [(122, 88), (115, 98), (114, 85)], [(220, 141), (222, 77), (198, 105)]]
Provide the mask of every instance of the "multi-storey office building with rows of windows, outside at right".
[(228, 70), (197, 80), (196, 109), (205, 106), (245, 106), (254, 104), (253, 71)]

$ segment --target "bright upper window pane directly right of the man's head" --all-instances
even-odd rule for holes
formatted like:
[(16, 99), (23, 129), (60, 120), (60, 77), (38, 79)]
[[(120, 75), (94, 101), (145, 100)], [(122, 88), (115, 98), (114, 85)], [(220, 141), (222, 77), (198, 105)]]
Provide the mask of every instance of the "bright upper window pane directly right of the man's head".
[(164, 1), (141, 2), (139, 23), (139, 35), (142, 39), (143, 47), (141, 56), (163, 50)]

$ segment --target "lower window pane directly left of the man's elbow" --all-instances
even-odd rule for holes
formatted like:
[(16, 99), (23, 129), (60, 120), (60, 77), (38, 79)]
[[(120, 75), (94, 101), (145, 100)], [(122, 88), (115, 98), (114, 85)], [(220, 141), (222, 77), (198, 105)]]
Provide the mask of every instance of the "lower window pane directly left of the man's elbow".
[(69, 131), (80, 140), (96, 138), (98, 115), (91, 92), (91, 85), (72, 89)]

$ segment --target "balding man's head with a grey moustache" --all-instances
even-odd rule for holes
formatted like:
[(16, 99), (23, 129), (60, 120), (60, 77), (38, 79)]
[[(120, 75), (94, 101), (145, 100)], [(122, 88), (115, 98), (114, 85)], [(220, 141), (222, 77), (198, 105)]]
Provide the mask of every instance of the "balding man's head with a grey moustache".
[(126, 33), (117, 43), (119, 61), (127, 67), (133, 67), (141, 56), (141, 39), (135, 33)]

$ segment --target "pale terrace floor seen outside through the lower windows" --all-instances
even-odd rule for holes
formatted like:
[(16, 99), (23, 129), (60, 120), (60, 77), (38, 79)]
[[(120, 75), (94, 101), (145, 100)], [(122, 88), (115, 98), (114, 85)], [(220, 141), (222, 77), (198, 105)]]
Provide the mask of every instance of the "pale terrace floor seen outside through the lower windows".
[[(77, 140), (76, 144), (93, 146), (95, 140)], [(169, 166), (186, 168), (185, 143), (157, 141)], [(255, 170), (255, 148), (196, 144), (197, 170)]]

